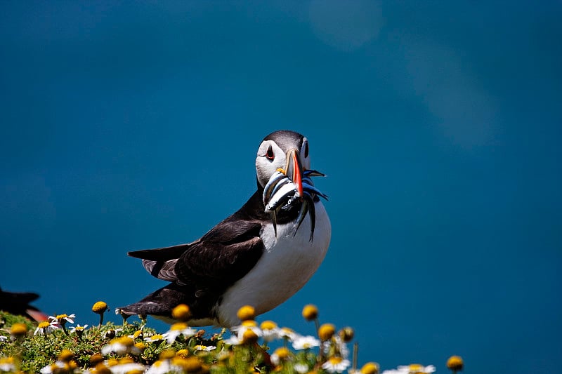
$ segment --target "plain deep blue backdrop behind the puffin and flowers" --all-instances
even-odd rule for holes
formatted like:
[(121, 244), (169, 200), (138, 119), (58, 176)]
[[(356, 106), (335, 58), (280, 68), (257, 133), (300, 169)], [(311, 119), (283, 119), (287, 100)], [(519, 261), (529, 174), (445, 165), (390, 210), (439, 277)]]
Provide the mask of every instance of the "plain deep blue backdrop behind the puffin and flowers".
[(360, 363), (561, 373), (561, 19), (560, 1), (2, 1), (0, 286), (95, 324), (93, 302), (165, 284), (126, 251), (240, 208), (259, 142), (289, 128), (328, 175), (332, 243), (260, 321), (313, 333), (311, 302), (356, 329)]

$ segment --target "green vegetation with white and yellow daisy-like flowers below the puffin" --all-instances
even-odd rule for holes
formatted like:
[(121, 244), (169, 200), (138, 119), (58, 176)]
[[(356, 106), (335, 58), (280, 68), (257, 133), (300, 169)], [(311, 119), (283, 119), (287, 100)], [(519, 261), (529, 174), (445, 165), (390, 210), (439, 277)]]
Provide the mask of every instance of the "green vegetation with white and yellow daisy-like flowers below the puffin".
[[(50, 316), (49, 321), (32, 322), (22, 316), (0, 312), (0, 373), (42, 374), (249, 374), (249, 373), (342, 373), (377, 374), (377, 363), (357, 367), (356, 346), (348, 344), (353, 329), (336, 330), (318, 322), (313, 305), (303, 309), (303, 317), (314, 321), (317, 336), (303, 336), (273, 321), (254, 321), (251, 307), (242, 307), (242, 324), (231, 333), (222, 330), (209, 336), (190, 328), (185, 305), (173, 314), (179, 320), (170, 330), (158, 333), (143, 321), (123, 325), (103, 323), (107, 305), (96, 302), (98, 326), (74, 324), (74, 315)], [(72, 326), (70, 326), (72, 325)], [(226, 338), (225, 335), (228, 335)], [(279, 347), (268, 352), (268, 343)], [(320, 349), (322, 347), (322, 349)], [(352, 356), (352, 357), (350, 357)], [(455, 356), (457, 357), (457, 356)], [(454, 370), (462, 370), (462, 359), (453, 360)], [(402, 368), (402, 369), (400, 369)], [(431, 373), (433, 366), (404, 366), (396, 373)], [(407, 368), (407, 369), (406, 369)], [(402, 371), (399, 371), (402, 370)], [(390, 373), (390, 370), (388, 370)]]

